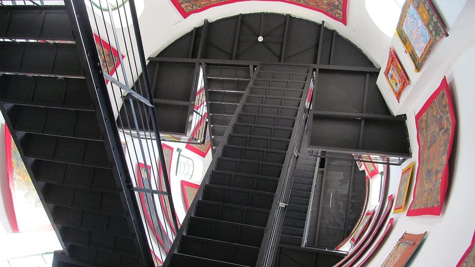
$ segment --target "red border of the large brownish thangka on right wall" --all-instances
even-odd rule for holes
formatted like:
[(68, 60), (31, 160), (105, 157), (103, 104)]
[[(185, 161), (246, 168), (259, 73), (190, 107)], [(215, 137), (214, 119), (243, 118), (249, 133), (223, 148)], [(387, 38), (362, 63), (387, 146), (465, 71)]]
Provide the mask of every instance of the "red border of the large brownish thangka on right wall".
[[(418, 166), (417, 166), (417, 174), (416, 174), (416, 184), (414, 185), (413, 193), (412, 193), (412, 202), (411, 205), (409, 205), (409, 209), (406, 213), (406, 216), (420, 216), (420, 215), (440, 215), (440, 212), (442, 211), (442, 206), (444, 204), (444, 199), (445, 199), (445, 193), (447, 192), (447, 187), (448, 187), (448, 180), (449, 180), (449, 159), (450, 159), (450, 154), (452, 152), (452, 145), (454, 142), (454, 135), (455, 135), (455, 126), (456, 126), (456, 121), (455, 121), (455, 113), (454, 113), (454, 107), (452, 105), (452, 98), (450, 96), (450, 91), (449, 91), (449, 86), (447, 84), (447, 79), (444, 76), (442, 81), (440, 82), (439, 87), (430, 95), (430, 97), (427, 99), (426, 103), (424, 106), (419, 110), (419, 112), (416, 115), (416, 131), (419, 133), (419, 125), (417, 121), (421, 116), (427, 111), (429, 106), (433, 103), (435, 98), (439, 95), (439, 93), (445, 90), (445, 93), (447, 95), (447, 103), (449, 106), (450, 110), (450, 118), (452, 119), (452, 129), (450, 133), (450, 140), (449, 140), (449, 146), (447, 149), (447, 160), (445, 162), (444, 170), (442, 171), (442, 176), (441, 176), (441, 181), (440, 181), (440, 200), (439, 200), (439, 206), (437, 207), (429, 207), (429, 208), (421, 208), (421, 209), (415, 209), (412, 210), (412, 204), (414, 203), (414, 200), (416, 199), (416, 188), (419, 182), (419, 171), (421, 170), (420, 167), (420, 162), (421, 162), (421, 149), (419, 148), (419, 153), (418, 153)], [(420, 145), (420, 140), (419, 140), (419, 134), (417, 135), (417, 143)]]

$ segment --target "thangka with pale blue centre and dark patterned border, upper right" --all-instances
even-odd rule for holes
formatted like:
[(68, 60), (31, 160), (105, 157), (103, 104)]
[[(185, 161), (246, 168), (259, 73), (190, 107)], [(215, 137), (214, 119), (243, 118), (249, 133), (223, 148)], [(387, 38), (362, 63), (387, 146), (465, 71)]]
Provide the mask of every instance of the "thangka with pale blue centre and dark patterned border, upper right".
[(402, 6), (396, 33), (419, 72), (447, 30), (430, 0), (407, 0)]

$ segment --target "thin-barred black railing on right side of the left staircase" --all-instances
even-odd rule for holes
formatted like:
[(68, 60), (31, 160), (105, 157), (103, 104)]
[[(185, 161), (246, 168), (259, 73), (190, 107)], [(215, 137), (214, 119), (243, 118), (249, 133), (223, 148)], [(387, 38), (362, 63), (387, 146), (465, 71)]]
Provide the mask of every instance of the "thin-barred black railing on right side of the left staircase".
[[(139, 224), (142, 223), (140, 226), (147, 240), (140, 241), (148, 243), (154, 265), (160, 266), (175, 239), (178, 223), (170, 191), (171, 158), (166, 157), (160, 138), (156, 138), (160, 133), (135, 2), (73, 2), (84, 5), (81, 8), (87, 10), (86, 19), (93, 32), (88, 39), (95, 41), (95, 51), (100, 60), (100, 66), (90, 68), (102, 74), (102, 85), (107, 91), (104, 95), (109, 98), (103, 101), (110, 100), (111, 103), (112, 114), (108, 116), (115, 122), (124, 154), (120, 158), (125, 160), (126, 163), (122, 164), (129, 172), (125, 183), (131, 190), (130, 196), (135, 197), (140, 213), (132, 216), (139, 219)], [(91, 32), (81, 35), (91, 35)], [(100, 101), (99, 98), (99, 105)], [(146, 254), (144, 250), (142, 244), (142, 253)]]

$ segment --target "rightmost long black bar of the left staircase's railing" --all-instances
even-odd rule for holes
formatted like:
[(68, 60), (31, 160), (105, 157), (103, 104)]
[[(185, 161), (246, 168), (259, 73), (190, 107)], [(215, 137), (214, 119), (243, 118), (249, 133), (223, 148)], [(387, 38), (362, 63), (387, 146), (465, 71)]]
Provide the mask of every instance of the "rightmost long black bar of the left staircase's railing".
[[(148, 72), (147, 72), (147, 63), (145, 61), (145, 55), (143, 51), (143, 43), (142, 43), (142, 37), (140, 34), (140, 29), (139, 29), (139, 19), (137, 16), (137, 10), (135, 9), (135, 1), (134, 0), (129, 0), (130, 1), (130, 10), (131, 10), (131, 15), (132, 15), (132, 23), (134, 26), (134, 32), (135, 32), (135, 38), (137, 40), (137, 50), (139, 52), (139, 58), (140, 58), (140, 63), (142, 66), (142, 75), (143, 75), (143, 82), (145, 84), (145, 89), (147, 92), (147, 98), (150, 103), (153, 103), (153, 97), (151, 95), (150, 91), (150, 80), (148, 77)], [(163, 149), (162, 149), (162, 142), (160, 140), (160, 132), (158, 129), (157, 121), (156, 121), (156, 111), (155, 107), (150, 107), (151, 113), (152, 113), (152, 126), (153, 130), (155, 132), (155, 140), (157, 141), (158, 144), (158, 154), (160, 157), (160, 164), (162, 164), (162, 170), (163, 170), (163, 176), (165, 180), (165, 187), (167, 189), (167, 192), (171, 194), (170, 190), (170, 181), (168, 178), (168, 172), (167, 172), (167, 166), (165, 164), (165, 156), (163, 155)], [(175, 214), (175, 206), (173, 205), (173, 200), (172, 198), (169, 198), (169, 204), (170, 204), (170, 210), (172, 213), (172, 220), (173, 220), (173, 225), (175, 226), (175, 229), (178, 229), (178, 223), (177, 223), (177, 216)]]

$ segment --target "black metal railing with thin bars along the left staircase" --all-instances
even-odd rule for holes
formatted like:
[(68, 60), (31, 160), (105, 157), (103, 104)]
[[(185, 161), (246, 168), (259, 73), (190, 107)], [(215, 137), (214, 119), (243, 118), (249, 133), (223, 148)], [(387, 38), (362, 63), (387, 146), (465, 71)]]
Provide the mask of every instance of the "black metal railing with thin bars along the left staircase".
[[(157, 266), (165, 259), (178, 231), (169, 166), (160, 138), (154, 138), (160, 132), (135, 2), (113, 1), (116, 5), (122, 3), (123, 10), (115, 11), (117, 16), (107, 8), (95, 10), (92, 0), (69, 0), (66, 5), (70, 17), (78, 21), (77, 46), (83, 65), (87, 64), (84, 68), (95, 79), (90, 88), (98, 95), (96, 101), (109, 127), (106, 134), (111, 139), (114, 162), (124, 171), (117, 179), (125, 192), (123, 201), (129, 206), (131, 227), (137, 233), (134, 241), (142, 257), (140, 264)], [(115, 27), (114, 19), (123, 27)], [(127, 94), (134, 98), (125, 97)], [(121, 108), (130, 112), (121, 114)], [(134, 136), (134, 128), (141, 129), (140, 134)]]

